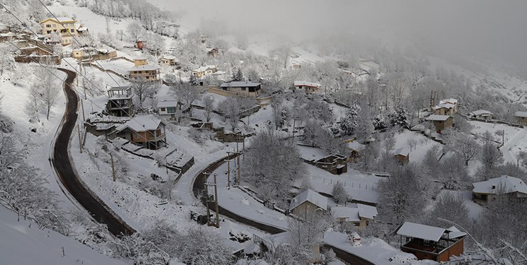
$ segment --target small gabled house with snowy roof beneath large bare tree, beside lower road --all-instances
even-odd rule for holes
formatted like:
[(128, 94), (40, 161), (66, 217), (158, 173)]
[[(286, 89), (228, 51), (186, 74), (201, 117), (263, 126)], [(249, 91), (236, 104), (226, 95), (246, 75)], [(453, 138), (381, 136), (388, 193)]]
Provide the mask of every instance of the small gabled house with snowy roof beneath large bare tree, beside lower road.
[(321, 213), (328, 211), (328, 198), (311, 189), (306, 189), (301, 194), (296, 195), (289, 204), (289, 211), (295, 216), (305, 216), (318, 210)]

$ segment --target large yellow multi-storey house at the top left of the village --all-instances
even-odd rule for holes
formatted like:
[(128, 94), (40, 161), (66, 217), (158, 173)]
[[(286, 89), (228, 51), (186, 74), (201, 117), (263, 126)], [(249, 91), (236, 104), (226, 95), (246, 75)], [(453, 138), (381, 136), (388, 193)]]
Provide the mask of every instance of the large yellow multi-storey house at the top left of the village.
[(48, 38), (51, 38), (52, 33), (56, 33), (60, 36), (60, 42), (64, 46), (74, 42), (74, 37), (79, 37), (79, 33), (83, 34), (88, 31), (79, 25), (77, 20), (65, 17), (46, 18), (40, 21), (40, 30)]

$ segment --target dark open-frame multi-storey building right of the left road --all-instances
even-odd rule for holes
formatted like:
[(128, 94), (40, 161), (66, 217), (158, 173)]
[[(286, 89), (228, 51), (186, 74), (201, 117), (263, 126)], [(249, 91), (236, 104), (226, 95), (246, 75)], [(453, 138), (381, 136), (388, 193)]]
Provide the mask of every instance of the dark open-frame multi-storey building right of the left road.
[(108, 89), (108, 103), (106, 111), (117, 117), (132, 117), (134, 115), (134, 103), (132, 102), (131, 86), (114, 86)]

